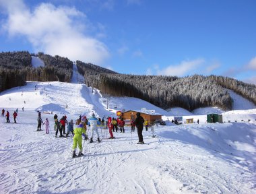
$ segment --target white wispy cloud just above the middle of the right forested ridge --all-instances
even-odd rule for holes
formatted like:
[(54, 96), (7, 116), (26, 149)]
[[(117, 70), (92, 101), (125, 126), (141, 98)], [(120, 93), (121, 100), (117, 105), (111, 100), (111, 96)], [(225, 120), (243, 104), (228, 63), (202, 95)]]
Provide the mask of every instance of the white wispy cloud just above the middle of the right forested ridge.
[(158, 69), (157, 75), (184, 76), (191, 74), (199, 65), (204, 63), (204, 59), (195, 59), (193, 61), (182, 61), (179, 65), (170, 65), (164, 69)]

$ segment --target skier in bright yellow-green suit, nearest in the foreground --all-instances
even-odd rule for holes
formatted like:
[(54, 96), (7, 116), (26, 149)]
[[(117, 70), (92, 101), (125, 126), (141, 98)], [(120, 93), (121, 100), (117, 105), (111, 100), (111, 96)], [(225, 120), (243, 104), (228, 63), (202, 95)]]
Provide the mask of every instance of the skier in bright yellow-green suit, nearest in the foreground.
[(74, 137), (73, 137), (73, 156), (72, 158), (75, 158), (75, 156), (77, 156), (75, 154), (75, 150), (77, 148), (77, 143), (78, 143), (78, 147), (79, 147), (79, 154), (78, 156), (84, 156), (84, 154), (82, 153), (83, 151), (83, 145), (82, 145), (82, 135), (85, 136), (86, 134), (86, 130), (84, 129), (84, 124), (80, 123), (79, 125), (77, 125), (74, 129)]

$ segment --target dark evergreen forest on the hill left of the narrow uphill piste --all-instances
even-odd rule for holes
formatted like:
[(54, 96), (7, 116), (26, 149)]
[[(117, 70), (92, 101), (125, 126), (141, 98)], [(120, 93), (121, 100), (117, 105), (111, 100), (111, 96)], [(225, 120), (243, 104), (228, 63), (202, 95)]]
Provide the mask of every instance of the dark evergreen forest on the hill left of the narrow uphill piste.
[[(44, 61), (44, 67), (32, 67), (31, 55)], [(30, 54), (28, 51), (0, 53), (0, 91), (24, 86), (26, 81), (70, 82), (73, 63), (65, 57)]]

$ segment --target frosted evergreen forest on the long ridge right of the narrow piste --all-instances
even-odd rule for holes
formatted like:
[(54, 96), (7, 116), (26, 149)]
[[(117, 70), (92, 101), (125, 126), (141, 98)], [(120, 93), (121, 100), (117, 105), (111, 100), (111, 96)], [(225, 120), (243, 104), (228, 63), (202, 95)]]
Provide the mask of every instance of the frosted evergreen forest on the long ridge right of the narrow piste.
[(98, 88), (103, 94), (141, 98), (162, 108), (179, 106), (194, 110), (218, 106), (232, 110), (232, 98), (225, 88), (256, 104), (256, 86), (229, 77), (125, 75), (82, 61), (77, 61), (77, 69), (88, 86)]

